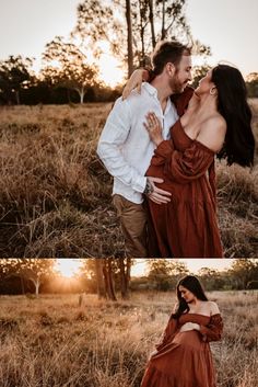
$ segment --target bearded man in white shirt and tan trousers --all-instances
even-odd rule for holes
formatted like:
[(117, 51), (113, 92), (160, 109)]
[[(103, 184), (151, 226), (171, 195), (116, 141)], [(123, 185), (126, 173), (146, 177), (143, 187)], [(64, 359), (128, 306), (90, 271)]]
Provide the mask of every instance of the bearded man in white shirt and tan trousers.
[(114, 177), (113, 202), (120, 218), (126, 249), (131, 257), (148, 257), (146, 214), (143, 194), (153, 202), (169, 202), (171, 193), (155, 183), (163, 182), (144, 174), (154, 145), (144, 128), (145, 115), (154, 112), (163, 126), (165, 139), (178, 114), (169, 96), (181, 93), (191, 79), (190, 49), (180, 43), (162, 43), (153, 54), (154, 79), (144, 82), (141, 94), (133, 90), (127, 100), (119, 98), (101, 135), (97, 153)]

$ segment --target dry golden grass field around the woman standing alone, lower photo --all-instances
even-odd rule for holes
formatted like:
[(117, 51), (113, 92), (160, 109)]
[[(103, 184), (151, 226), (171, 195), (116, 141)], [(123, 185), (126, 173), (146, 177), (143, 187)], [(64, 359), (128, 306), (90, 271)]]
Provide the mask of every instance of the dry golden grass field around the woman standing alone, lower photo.
[[(208, 294), (224, 334), (211, 343), (218, 387), (257, 387), (258, 293)], [(0, 297), (1, 387), (139, 387), (174, 305), (174, 295), (128, 301), (84, 295)]]

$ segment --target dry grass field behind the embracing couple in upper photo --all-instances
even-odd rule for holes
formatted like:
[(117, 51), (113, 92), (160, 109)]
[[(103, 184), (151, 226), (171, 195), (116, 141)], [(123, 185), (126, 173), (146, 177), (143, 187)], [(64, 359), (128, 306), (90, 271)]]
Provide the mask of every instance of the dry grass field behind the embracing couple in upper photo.
[[(258, 101), (251, 101), (258, 139)], [(122, 257), (95, 153), (112, 104), (0, 107), (0, 257)], [(258, 167), (218, 163), (225, 257), (258, 257)]]

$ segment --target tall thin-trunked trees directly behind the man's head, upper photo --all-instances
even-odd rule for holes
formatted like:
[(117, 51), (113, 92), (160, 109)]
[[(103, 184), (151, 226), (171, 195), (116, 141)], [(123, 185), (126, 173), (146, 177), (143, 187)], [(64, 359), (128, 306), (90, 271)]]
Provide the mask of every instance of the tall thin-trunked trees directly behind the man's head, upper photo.
[(114, 0), (114, 4), (116, 11), (107, 0), (82, 1), (72, 36), (79, 37), (95, 56), (103, 50), (101, 43), (108, 42), (112, 54), (122, 64), (127, 58), (129, 75), (133, 66), (150, 65), (150, 55), (161, 39), (191, 42), (197, 53), (210, 55), (210, 47), (191, 36), (185, 16), (186, 0)]

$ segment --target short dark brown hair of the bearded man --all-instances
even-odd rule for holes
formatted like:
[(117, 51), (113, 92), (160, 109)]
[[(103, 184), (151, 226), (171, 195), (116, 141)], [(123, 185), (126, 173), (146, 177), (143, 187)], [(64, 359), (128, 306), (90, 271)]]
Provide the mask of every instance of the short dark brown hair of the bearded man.
[(191, 48), (177, 41), (160, 42), (152, 55), (154, 76), (162, 73), (165, 65), (168, 62), (177, 67), (183, 55), (191, 55)]

